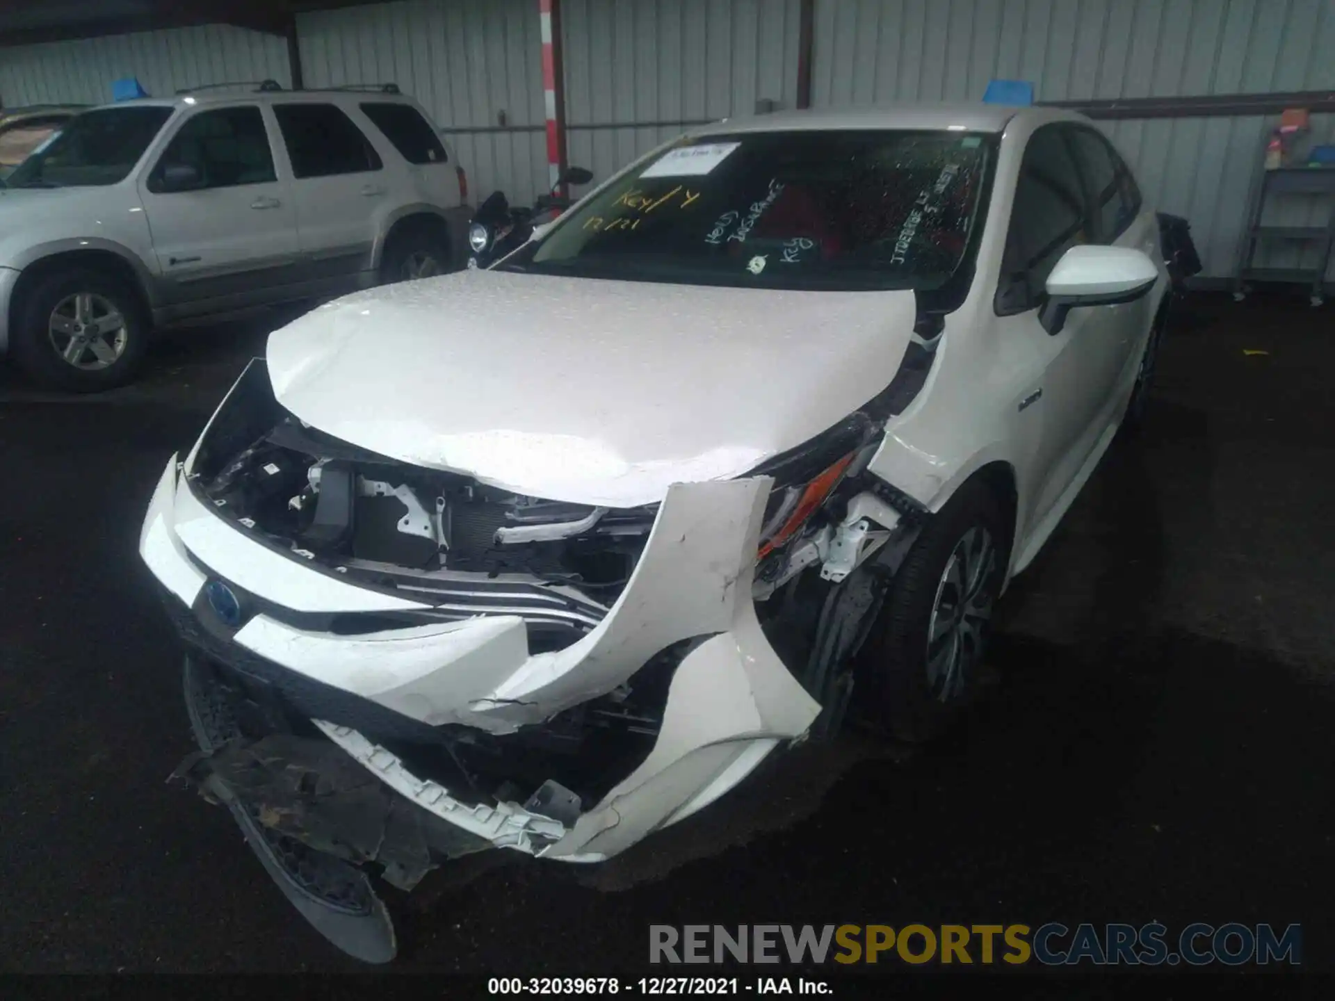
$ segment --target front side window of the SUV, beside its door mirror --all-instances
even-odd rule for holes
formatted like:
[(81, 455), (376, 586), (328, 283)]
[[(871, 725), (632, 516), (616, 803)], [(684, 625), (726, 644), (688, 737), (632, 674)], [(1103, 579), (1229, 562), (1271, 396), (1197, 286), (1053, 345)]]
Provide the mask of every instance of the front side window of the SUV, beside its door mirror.
[(148, 175), (148, 190), (160, 192), (167, 164), (194, 167), (206, 188), (266, 184), (278, 179), (264, 117), (255, 105), (202, 111), (180, 127)]

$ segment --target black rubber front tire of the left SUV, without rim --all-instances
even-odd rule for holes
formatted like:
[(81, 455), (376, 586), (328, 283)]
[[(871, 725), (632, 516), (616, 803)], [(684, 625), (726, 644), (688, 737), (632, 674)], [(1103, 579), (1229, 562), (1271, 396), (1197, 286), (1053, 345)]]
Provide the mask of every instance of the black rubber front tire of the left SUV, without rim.
[[(104, 367), (77, 367), (61, 356), (55, 338), (80, 335), (52, 334), (51, 323), (57, 307), (65, 308), (72, 296), (88, 294), (92, 302), (109, 304), (123, 319), (124, 343)], [(105, 314), (103, 315), (103, 319)], [(43, 275), (19, 303), (17, 323), (11, 348), (15, 362), (27, 376), (45, 388), (68, 392), (100, 392), (123, 386), (135, 376), (148, 350), (151, 324), (138, 291), (123, 279), (87, 267), (69, 267)], [(119, 335), (108, 335), (115, 342)], [(71, 342), (64, 340), (65, 346)], [(103, 342), (107, 343), (105, 340)], [(72, 348), (71, 348), (72, 350)], [(115, 347), (109, 347), (115, 352)], [(79, 362), (91, 366), (99, 359), (92, 347), (79, 352)]]

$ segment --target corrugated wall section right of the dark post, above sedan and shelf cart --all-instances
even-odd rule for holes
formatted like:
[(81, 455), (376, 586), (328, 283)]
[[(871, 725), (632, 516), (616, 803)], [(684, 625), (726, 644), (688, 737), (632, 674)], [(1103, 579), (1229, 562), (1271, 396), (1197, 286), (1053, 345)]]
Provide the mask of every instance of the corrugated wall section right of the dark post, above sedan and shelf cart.
[[(817, 0), (814, 107), (975, 100), (993, 77), (1039, 100), (1335, 88), (1332, 0)], [(1312, 137), (1332, 140), (1335, 116)], [(1192, 222), (1206, 275), (1231, 274), (1276, 117), (1107, 123), (1148, 198)], [(1315, 200), (1278, 222), (1323, 223)], [(1310, 266), (1298, 244), (1262, 262)]]

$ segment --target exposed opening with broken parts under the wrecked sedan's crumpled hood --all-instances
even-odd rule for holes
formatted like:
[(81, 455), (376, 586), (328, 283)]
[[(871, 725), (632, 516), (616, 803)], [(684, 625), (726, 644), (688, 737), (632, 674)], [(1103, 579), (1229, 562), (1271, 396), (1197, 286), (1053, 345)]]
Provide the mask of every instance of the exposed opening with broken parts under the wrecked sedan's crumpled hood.
[[(262, 364), (251, 371), (264, 378)], [(602, 619), (653, 527), (654, 507), (521, 496), (339, 442), (276, 404), (264, 408), (271, 423), (234, 426), (247, 410), (238, 402), (210, 428), (190, 479), (218, 514), (348, 581), (430, 599), (434, 621), (519, 615), (534, 651)], [(366, 631), (380, 619), (368, 615)], [(346, 615), (344, 631), (354, 626)]]

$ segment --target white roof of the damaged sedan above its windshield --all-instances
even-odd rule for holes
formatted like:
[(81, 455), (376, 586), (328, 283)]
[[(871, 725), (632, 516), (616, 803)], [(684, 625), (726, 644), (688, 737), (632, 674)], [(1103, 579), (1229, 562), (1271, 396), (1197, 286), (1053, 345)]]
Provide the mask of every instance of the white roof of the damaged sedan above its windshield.
[(1004, 132), (1017, 119), (1032, 121), (1084, 121), (1063, 108), (1015, 107), (983, 101), (939, 101), (920, 104), (882, 104), (841, 111), (782, 111), (773, 115), (722, 119), (692, 129), (690, 135), (708, 136), (724, 132), (786, 132), (834, 129), (951, 129), (960, 132)]

